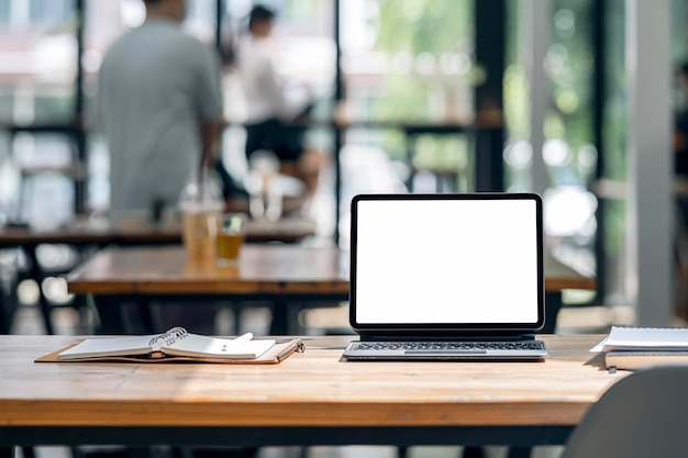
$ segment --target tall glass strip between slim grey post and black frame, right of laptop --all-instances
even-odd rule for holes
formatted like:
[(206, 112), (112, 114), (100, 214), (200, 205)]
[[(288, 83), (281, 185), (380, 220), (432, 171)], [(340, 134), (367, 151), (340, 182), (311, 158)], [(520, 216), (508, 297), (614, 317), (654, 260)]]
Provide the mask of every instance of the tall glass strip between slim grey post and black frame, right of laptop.
[(551, 85), (542, 150), (550, 178), (543, 196), (545, 231), (555, 253), (586, 271), (597, 271), (597, 198), (591, 192), (598, 160), (592, 112), (593, 4), (595, 0), (552, 2), (552, 40), (544, 62)]

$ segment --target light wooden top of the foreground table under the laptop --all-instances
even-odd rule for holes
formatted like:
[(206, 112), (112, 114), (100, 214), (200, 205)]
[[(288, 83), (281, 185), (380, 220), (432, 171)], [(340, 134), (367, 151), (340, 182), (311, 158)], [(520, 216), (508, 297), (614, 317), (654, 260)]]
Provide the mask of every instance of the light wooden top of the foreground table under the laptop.
[(34, 362), (78, 340), (0, 336), (0, 425), (575, 425), (626, 372), (602, 336), (541, 336), (543, 362), (342, 362), (353, 336), (302, 337), (275, 366)]

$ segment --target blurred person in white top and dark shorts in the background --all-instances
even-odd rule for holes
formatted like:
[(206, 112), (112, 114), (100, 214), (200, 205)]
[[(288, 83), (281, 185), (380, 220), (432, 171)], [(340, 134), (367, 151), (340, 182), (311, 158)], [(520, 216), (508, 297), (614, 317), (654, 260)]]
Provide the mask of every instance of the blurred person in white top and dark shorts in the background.
[(236, 69), (246, 100), (246, 158), (258, 150), (274, 153), (280, 172), (301, 179), (309, 196), (315, 191), (319, 153), (303, 145), (312, 102), (292, 107), (274, 67), (271, 40), (275, 12), (256, 4), (238, 41)]

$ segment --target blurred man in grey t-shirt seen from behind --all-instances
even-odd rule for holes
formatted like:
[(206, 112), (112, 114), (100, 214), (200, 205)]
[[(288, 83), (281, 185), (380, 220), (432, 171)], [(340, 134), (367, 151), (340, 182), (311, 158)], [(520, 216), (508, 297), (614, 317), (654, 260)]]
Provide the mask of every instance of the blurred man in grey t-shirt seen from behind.
[(110, 148), (110, 215), (176, 204), (223, 126), (220, 62), (185, 34), (186, 0), (144, 0), (146, 20), (112, 44), (99, 72), (98, 125)]

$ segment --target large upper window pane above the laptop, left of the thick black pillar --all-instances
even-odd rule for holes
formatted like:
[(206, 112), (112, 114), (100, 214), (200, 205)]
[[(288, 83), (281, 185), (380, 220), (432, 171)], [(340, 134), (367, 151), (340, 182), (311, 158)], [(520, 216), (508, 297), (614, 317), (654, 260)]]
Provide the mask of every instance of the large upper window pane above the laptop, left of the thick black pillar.
[(473, 119), (473, 3), (342, 3), (342, 69), (356, 120)]

